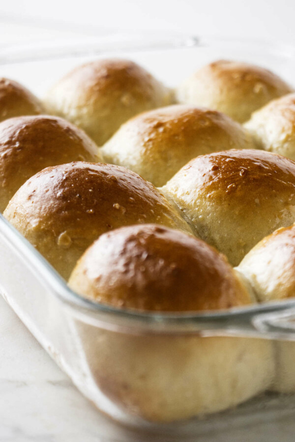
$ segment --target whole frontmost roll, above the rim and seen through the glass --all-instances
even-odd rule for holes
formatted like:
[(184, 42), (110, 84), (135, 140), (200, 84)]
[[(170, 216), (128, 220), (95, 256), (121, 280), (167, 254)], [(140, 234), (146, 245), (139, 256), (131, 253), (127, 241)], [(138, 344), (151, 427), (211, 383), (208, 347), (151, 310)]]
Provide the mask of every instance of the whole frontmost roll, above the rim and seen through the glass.
[[(102, 235), (69, 280), (95, 301), (139, 311), (191, 312), (251, 303), (226, 258), (201, 240), (157, 225)], [(171, 422), (237, 405), (272, 380), (271, 344), (193, 334), (138, 335), (78, 324), (97, 388), (121, 409)]]

